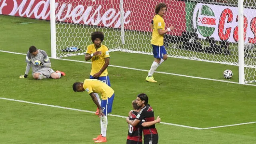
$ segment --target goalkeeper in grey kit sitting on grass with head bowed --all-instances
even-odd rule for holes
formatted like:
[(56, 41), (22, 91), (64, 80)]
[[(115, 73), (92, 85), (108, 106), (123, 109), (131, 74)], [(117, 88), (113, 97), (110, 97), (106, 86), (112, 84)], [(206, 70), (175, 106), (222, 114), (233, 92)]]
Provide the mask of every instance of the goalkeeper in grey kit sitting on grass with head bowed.
[(28, 77), (28, 72), (30, 70), (30, 66), (32, 66), (32, 76), (36, 80), (42, 80), (44, 78), (53, 78), (58, 79), (61, 76), (65, 76), (64, 72), (59, 70), (52, 70), (51, 62), (44, 50), (39, 50), (35, 46), (30, 46), (29, 51), (26, 55), (26, 71), (25, 75), (20, 76), (20, 78)]

